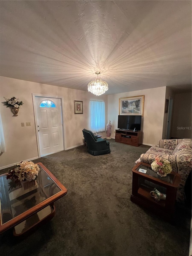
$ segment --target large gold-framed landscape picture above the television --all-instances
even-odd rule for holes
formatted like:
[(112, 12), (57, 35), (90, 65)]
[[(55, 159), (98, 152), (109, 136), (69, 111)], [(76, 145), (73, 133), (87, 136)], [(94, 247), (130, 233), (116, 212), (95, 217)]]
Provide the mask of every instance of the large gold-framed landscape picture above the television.
[(143, 116), (144, 95), (119, 98), (119, 115)]

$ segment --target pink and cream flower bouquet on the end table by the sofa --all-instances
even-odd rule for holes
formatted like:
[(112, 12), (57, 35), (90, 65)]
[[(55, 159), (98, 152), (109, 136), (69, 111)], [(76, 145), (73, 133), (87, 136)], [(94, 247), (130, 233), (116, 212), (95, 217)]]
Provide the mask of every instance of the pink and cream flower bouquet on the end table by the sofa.
[(151, 164), (152, 170), (158, 173), (161, 177), (167, 176), (172, 172), (172, 167), (167, 159), (162, 157), (156, 157), (155, 161)]

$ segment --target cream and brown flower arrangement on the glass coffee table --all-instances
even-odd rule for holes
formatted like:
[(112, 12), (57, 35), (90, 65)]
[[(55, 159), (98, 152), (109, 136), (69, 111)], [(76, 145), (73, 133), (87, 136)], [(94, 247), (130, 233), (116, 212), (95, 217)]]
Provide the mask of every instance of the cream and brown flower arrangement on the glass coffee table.
[(13, 179), (15, 182), (32, 181), (37, 178), (39, 173), (38, 164), (24, 161), (16, 164), (15, 167), (7, 173), (7, 179)]

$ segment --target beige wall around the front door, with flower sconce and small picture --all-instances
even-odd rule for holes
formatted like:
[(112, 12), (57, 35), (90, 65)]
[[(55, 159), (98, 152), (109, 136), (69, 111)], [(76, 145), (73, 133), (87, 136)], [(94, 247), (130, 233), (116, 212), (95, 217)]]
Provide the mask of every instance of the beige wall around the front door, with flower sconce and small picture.
[[(6, 152), (0, 154), (1, 169), (20, 161), (38, 158), (32, 93), (63, 97), (65, 150), (83, 144), (82, 129), (90, 128), (90, 99), (105, 101), (107, 123), (107, 95), (95, 96), (90, 92), (0, 77), (0, 111), (7, 148)], [(24, 102), (18, 116), (13, 116), (10, 107), (2, 103), (5, 101), (3, 97), (13, 96)], [(83, 101), (83, 114), (74, 114), (74, 100)], [(24, 127), (21, 127), (21, 122), (25, 123)], [(31, 122), (31, 126), (26, 126), (26, 122)], [(105, 132), (102, 137), (106, 137)]]

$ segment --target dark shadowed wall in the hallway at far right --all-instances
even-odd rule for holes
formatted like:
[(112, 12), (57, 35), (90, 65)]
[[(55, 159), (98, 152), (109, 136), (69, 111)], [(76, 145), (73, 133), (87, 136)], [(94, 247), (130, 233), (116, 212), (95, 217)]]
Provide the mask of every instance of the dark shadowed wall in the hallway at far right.
[(173, 103), (171, 136), (191, 138), (191, 92), (177, 93)]

